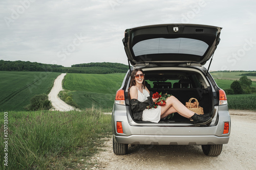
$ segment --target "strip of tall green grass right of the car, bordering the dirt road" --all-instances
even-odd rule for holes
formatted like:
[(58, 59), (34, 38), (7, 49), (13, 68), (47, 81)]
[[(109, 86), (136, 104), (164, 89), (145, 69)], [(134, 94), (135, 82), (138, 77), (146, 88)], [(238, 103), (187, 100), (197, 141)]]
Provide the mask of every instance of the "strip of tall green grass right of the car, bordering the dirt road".
[(227, 101), (229, 109), (256, 110), (256, 94), (230, 94)]

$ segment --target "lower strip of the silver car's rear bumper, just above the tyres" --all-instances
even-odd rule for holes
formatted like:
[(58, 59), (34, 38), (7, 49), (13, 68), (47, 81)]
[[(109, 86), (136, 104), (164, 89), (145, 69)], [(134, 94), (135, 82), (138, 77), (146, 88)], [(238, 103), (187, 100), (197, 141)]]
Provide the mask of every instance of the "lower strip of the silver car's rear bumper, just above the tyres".
[(159, 145), (225, 144), (229, 140), (229, 136), (215, 135), (113, 135), (113, 137), (117, 143)]

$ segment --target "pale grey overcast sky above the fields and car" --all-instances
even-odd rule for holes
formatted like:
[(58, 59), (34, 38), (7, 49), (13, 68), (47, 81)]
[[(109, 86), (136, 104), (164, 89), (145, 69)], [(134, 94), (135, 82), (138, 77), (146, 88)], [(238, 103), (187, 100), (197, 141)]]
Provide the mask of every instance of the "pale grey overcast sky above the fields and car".
[(1, 0), (0, 8), (3, 60), (127, 64), (125, 29), (197, 23), (223, 28), (210, 70), (256, 70), (254, 0)]

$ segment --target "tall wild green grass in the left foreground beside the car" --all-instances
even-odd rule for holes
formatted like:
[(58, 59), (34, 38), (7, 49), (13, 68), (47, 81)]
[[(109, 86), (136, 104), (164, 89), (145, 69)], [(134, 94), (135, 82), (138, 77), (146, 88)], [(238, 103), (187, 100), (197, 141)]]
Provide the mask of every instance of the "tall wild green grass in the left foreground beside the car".
[[(9, 112), (8, 121), (8, 169), (73, 168), (95, 153), (101, 138), (111, 133), (111, 115), (95, 109)], [(3, 126), (0, 133), (0, 167), (4, 168)]]

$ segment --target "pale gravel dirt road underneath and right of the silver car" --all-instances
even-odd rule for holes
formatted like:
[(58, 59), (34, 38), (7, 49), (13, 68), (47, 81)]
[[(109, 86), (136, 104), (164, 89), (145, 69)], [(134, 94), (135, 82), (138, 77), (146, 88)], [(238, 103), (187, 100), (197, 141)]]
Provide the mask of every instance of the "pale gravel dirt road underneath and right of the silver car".
[(208, 157), (200, 145), (129, 145), (128, 155), (115, 155), (105, 141), (92, 169), (256, 169), (256, 112), (229, 110), (231, 135), (218, 157)]

